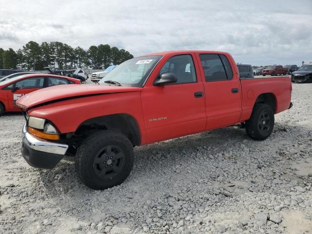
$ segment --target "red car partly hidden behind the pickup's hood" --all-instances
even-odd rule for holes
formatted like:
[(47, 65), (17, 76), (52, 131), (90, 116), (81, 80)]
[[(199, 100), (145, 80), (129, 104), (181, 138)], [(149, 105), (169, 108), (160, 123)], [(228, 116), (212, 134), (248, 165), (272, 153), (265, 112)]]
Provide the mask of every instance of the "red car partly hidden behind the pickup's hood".
[(0, 82), (0, 116), (4, 112), (20, 111), (15, 102), (25, 94), (60, 84), (81, 84), (81, 82), (75, 78), (50, 74), (27, 74)]

